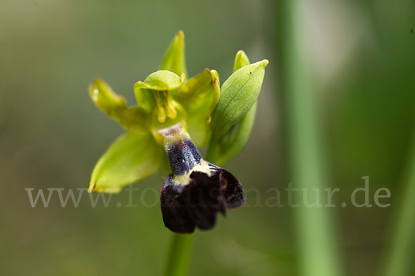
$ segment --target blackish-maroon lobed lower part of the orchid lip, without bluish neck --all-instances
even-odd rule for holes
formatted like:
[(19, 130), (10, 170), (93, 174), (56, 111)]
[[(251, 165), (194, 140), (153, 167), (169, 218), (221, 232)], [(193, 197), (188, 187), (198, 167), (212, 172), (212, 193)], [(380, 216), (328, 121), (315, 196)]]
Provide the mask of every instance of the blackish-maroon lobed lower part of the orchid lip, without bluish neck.
[(243, 205), (245, 195), (238, 179), (223, 168), (210, 164), (212, 175), (192, 171), (188, 184), (177, 184), (174, 174), (165, 179), (160, 193), (161, 212), (167, 228), (176, 233), (192, 233), (213, 228), (216, 214)]

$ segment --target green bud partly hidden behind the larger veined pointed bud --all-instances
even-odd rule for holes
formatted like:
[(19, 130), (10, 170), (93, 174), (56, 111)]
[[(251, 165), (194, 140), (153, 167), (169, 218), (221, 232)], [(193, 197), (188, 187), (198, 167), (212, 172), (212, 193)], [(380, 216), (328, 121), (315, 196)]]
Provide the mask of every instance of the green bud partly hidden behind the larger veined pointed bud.
[[(243, 66), (249, 65), (248, 56), (239, 50), (235, 57), (233, 72)], [(234, 124), (228, 132), (222, 135), (217, 141), (211, 140), (206, 153), (206, 159), (217, 166), (223, 166), (239, 154), (245, 148), (250, 137), (250, 132), (254, 126), (257, 103), (250, 108), (242, 119)]]

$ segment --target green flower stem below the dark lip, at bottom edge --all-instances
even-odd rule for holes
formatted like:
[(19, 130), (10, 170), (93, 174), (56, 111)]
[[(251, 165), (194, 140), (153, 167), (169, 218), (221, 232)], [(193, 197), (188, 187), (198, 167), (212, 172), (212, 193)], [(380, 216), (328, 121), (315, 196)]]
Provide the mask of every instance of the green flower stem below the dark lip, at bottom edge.
[(172, 244), (170, 246), (165, 267), (165, 276), (185, 276), (189, 268), (190, 253), (192, 251), (193, 234), (172, 235)]

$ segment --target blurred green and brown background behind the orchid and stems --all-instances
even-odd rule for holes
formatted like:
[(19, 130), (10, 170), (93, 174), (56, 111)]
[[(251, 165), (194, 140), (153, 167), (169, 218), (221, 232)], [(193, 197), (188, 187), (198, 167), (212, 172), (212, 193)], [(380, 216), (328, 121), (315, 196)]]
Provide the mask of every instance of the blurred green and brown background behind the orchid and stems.
[[(342, 190), (333, 202), (348, 201), (366, 175), (372, 204), (376, 189), (391, 190), (389, 208), (333, 208), (335, 250), (344, 275), (381, 275), (401, 195), (415, 185), (405, 180), (414, 170), (415, 2), (308, 1), (303, 15), (324, 172)], [(87, 195), (78, 208), (62, 208), (56, 196), (48, 208), (32, 208), (25, 188), (87, 188), (95, 161), (124, 131), (95, 108), (89, 81), (102, 77), (133, 104), (133, 84), (157, 70), (183, 30), (190, 76), (216, 69), (223, 83), (240, 49), (251, 61), (270, 60), (248, 146), (226, 166), (241, 180), (247, 206), (196, 233), (190, 275), (299, 275), (293, 208), (259, 206), (270, 188), (293, 181), (290, 91), (280, 85), (289, 55), (285, 16), (282, 1), (271, 0), (2, 0), (0, 274), (163, 272), (171, 235), (152, 204), (158, 195), (143, 196), (151, 207), (138, 191), (136, 208), (124, 207), (126, 192), (113, 195), (109, 208), (92, 208)], [(134, 188), (161, 184), (156, 175)], [(407, 273), (414, 275), (413, 265)]]

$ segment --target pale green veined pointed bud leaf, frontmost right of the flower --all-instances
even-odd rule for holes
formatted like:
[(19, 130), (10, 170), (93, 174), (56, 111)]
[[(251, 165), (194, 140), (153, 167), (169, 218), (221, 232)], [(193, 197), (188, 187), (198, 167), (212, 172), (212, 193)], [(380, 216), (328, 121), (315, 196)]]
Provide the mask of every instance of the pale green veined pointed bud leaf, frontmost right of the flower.
[(241, 120), (257, 101), (268, 60), (235, 71), (221, 88), (221, 98), (212, 114), (212, 139), (219, 139)]

